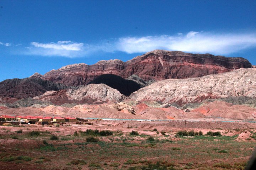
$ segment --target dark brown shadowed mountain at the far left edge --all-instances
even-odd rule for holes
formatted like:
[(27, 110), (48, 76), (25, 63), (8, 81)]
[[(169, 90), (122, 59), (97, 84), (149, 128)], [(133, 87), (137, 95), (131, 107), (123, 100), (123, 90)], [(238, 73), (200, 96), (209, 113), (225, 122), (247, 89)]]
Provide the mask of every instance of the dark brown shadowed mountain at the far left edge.
[(42, 95), (49, 90), (61, 90), (68, 87), (39, 78), (7, 79), (0, 82), (0, 97), (17, 99)]

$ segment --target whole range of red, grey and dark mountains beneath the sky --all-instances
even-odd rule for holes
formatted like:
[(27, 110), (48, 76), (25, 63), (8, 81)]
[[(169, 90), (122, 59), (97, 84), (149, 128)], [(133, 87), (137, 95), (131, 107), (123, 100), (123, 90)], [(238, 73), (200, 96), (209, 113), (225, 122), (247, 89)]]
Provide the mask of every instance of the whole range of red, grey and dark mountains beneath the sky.
[(241, 57), (154, 50), (127, 62), (115, 59), (93, 65), (72, 64), (44, 75), (4, 80), (0, 82), (0, 106), (9, 110), (89, 104), (90, 114), (100, 109), (107, 116), (115, 109), (114, 117), (124, 117), (118, 114), (125, 113), (144, 119), (175, 119), (202, 118), (212, 113), (218, 116), (221, 111), (206, 113), (204, 106), (211, 103), (209, 107), (218, 108), (216, 105), (229, 102), (222, 105), (230, 109), (240, 104), (244, 109), (239, 113), (231, 109), (234, 114), (227, 117), (254, 118), (255, 73), (252, 64)]

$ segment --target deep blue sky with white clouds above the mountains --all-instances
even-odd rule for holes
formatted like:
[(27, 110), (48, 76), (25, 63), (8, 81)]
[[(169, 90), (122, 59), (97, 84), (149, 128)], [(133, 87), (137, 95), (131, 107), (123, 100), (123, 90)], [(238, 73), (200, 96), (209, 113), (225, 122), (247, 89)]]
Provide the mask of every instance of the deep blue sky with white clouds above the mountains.
[(255, 0), (0, 0), (0, 81), (163, 49), (256, 65)]

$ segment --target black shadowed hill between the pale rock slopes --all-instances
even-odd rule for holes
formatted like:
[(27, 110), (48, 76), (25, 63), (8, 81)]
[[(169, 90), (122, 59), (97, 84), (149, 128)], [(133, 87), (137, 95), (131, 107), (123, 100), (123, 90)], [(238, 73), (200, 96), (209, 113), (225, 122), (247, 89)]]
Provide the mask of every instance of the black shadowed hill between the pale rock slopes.
[(92, 80), (89, 84), (106, 84), (113, 89), (120, 91), (121, 94), (129, 96), (132, 92), (141, 88), (140, 84), (132, 80), (126, 80), (118, 75), (102, 74)]

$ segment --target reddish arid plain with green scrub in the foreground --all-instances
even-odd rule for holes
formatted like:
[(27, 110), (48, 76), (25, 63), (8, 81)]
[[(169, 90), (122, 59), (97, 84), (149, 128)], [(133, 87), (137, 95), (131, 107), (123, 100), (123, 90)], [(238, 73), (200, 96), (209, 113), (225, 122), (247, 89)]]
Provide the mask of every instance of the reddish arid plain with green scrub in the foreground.
[(255, 123), (89, 123), (0, 126), (0, 169), (240, 170), (255, 148)]

